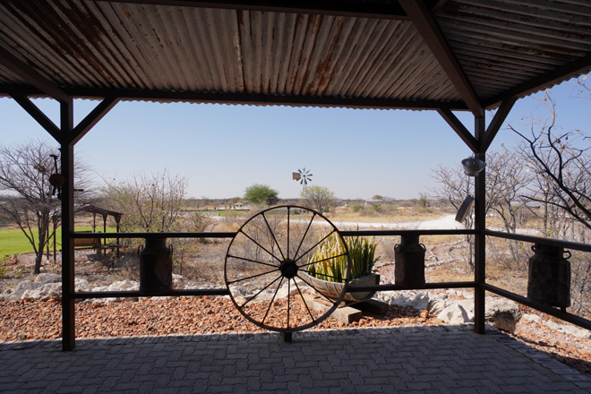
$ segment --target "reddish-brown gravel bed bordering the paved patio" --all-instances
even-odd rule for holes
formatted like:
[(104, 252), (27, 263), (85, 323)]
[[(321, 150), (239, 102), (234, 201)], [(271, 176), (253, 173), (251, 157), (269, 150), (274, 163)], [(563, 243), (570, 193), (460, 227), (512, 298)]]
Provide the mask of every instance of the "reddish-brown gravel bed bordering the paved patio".
[[(524, 311), (525, 312), (525, 311)], [(531, 313), (529, 310), (527, 313)], [(432, 316), (390, 306), (383, 316), (364, 313), (349, 327), (439, 324)], [(344, 329), (327, 319), (310, 330)], [(261, 331), (238, 313), (227, 297), (145, 298), (110, 304), (76, 304), (76, 337), (159, 336), (167, 334)], [(61, 304), (55, 301), (0, 303), (0, 341), (60, 338)], [(522, 320), (511, 334), (591, 377), (591, 339), (576, 338), (544, 324)]]

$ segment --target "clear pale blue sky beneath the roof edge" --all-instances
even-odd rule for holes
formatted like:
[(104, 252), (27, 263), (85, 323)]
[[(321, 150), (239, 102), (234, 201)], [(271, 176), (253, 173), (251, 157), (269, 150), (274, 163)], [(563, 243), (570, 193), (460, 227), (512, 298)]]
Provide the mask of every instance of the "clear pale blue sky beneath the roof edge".
[[(591, 100), (572, 98), (575, 85), (554, 87), (558, 123), (565, 130), (589, 130)], [(541, 93), (535, 95), (541, 97)], [(35, 103), (58, 122), (56, 101)], [(75, 121), (98, 101), (76, 100)], [(533, 98), (520, 99), (508, 121), (547, 116)], [(456, 114), (472, 130), (472, 117)], [(489, 116), (490, 117), (490, 116)], [(3, 145), (50, 136), (12, 99), (0, 99)], [(490, 119), (489, 119), (490, 120)], [(492, 150), (512, 146), (516, 135), (501, 128)], [(434, 111), (247, 107), (185, 103), (120, 102), (75, 148), (90, 165), (97, 185), (150, 175), (165, 168), (188, 180), (188, 196), (229, 198), (251, 184), (268, 184), (279, 197), (297, 197), (291, 179), (310, 168), (312, 184), (329, 187), (338, 198), (381, 194), (415, 198), (433, 189), (433, 168), (456, 166), (471, 155)]]

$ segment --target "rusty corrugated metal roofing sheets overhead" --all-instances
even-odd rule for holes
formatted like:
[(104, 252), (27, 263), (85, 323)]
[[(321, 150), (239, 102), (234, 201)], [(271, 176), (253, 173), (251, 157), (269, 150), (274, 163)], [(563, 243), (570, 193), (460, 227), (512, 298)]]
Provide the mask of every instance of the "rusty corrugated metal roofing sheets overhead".
[[(159, 3), (5, 0), (0, 47), (79, 96), (129, 90), (161, 100), (174, 94), (158, 92), (199, 92), (466, 107), (407, 18)], [(591, 54), (587, 1), (450, 0), (435, 20), (486, 105)], [(0, 93), (34, 91), (29, 85), (0, 65)]]

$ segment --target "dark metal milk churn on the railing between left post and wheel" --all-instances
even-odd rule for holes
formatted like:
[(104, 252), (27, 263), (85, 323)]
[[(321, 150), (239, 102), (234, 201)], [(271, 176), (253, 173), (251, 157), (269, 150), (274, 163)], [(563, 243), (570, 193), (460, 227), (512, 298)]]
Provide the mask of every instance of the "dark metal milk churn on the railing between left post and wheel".
[(161, 295), (172, 290), (172, 246), (167, 238), (146, 238), (140, 257), (140, 294)]

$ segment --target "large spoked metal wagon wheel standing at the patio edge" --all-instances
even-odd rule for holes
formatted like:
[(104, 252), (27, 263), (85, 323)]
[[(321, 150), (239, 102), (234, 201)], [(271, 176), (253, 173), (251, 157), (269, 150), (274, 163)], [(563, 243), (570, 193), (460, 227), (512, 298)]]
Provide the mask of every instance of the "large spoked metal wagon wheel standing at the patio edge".
[[(326, 307), (316, 311), (304, 299), (304, 293), (315, 289), (304, 271), (319, 262), (313, 258), (316, 249), (333, 235), (343, 248), (338, 257), (347, 261), (346, 274), (333, 279), (345, 285), (334, 299), (320, 295)], [(296, 206), (262, 210), (249, 218), (232, 238), (224, 264), (226, 287), (238, 311), (261, 328), (289, 336), (320, 323), (337, 308), (350, 273), (351, 258), (338, 228), (320, 213)]]

